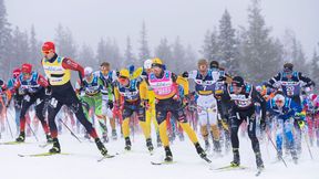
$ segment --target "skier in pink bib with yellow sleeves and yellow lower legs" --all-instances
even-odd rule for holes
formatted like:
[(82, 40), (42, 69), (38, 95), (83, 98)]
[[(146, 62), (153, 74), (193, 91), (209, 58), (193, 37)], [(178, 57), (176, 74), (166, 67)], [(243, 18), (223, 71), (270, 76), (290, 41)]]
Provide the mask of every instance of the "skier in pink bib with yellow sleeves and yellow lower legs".
[(195, 131), (187, 123), (186, 115), (183, 108), (183, 103), (179, 97), (177, 75), (163, 69), (163, 62), (160, 59), (153, 59), (152, 73), (148, 74), (148, 84), (153, 88), (156, 98), (156, 120), (160, 125), (160, 136), (165, 149), (164, 161), (173, 161), (173, 154), (169, 148), (168, 136), (166, 134), (167, 113), (179, 122), (179, 125), (184, 131), (188, 135), (189, 139), (194, 144), (197, 154), (202, 158), (206, 158), (204, 149), (200, 147)]

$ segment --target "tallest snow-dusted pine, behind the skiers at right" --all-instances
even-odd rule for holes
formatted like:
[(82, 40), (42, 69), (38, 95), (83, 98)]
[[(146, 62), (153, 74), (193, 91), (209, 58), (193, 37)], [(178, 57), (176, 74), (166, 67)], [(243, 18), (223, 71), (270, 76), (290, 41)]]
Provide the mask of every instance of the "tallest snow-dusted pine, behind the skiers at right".
[[(276, 75), (281, 70), (282, 46), (279, 41), (270, 35), (270, 29), (266, 27), (265, 19), (261, 15), (259, 0), (253, 0), (248, 9), (248, 30), (244, 29), (240, 39), (240, 53), (244, 63), (246, 80), (255, 84)], [(241, 64), (243, 65), (243, 64)]]

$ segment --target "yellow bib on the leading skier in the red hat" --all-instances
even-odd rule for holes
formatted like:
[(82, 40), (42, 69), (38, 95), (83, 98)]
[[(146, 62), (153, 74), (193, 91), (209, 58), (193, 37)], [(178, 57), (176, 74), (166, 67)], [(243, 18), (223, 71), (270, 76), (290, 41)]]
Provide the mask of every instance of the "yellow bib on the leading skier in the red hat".
[(52, 86), (60, 86), (68, 83), (71, 78), (71, 71), (62, 66), (64, 57), (58, 56), (53, 63), (42, 60), (45, 76)]

